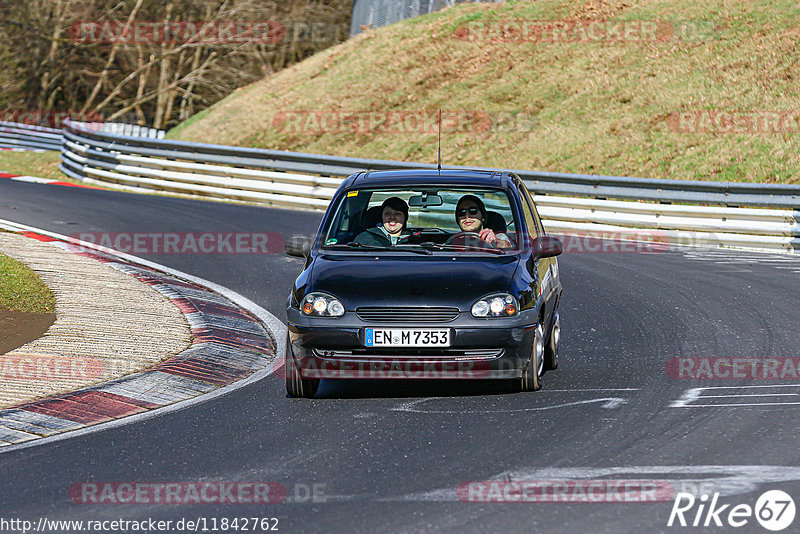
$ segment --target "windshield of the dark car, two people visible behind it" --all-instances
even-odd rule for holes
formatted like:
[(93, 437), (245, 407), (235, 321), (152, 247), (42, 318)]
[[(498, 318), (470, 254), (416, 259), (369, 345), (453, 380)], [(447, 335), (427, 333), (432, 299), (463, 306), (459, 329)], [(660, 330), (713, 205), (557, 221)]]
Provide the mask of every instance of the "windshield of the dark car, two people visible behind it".
[(328, 220), (322, 247), (503, 254), (518, 249), (517, 228), (500, 189), (357, 189), (342, 197)]

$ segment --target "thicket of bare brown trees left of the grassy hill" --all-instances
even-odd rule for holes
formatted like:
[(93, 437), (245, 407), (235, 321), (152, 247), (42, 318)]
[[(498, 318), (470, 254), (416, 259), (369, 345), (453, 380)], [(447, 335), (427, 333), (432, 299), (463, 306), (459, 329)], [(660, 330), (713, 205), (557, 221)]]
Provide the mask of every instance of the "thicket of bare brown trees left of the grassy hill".
[[(107, 120), (132, 113), (140, 124), (168, 127), (344, 40), (351, 8), (352, 0), (0, 0), (0, 107)], [(96, 22), (102, 38), (76, 38), (81, 21)], [(276, 31), (282, 39), (275, 42), (167, 32), (161, 39), (108, 38), (108, 28), (191, 21), (262, 21), (284, 33)]]

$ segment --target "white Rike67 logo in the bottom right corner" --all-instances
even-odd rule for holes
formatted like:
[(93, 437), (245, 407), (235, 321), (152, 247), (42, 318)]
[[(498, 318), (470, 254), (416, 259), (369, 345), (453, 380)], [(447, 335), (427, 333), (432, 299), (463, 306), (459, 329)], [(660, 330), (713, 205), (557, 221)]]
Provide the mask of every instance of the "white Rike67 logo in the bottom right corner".
[(739, 528), (755, 517), (765, 529), (778, 532), (787, 529), (794, 521), (794, 516), (794, 500), (781, 490), (763, 493), (755, 506), (745, 503), (719, 504), (719, 493), (714, 493), (711, 502), (708, 502), (707, 494), (696, 498), (691, 493), (678, 493), (667, 526)]

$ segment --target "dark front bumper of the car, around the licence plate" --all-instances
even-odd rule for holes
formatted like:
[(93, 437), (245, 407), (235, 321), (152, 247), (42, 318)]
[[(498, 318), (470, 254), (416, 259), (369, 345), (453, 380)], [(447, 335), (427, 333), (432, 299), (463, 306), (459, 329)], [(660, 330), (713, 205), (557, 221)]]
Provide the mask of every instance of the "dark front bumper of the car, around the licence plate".
[[(510, 379), (531, 354), (534, 311), (503, 319), (461, 313), (447, 323), (365, 323), (354, 313), (311, 318), (289, 309), (287, 365), (302, 378)], [(364, 329), (449, 329), (448, 348), (365, 347)]]

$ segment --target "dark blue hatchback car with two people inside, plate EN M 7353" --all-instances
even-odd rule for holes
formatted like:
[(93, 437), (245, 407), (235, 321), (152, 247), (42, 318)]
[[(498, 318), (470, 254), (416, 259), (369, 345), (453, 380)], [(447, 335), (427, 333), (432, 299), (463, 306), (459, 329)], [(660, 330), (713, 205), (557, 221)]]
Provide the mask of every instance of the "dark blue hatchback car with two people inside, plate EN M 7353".
[(561, 242), (512, 172), (380, 171), (347, 178), (287, 308), (286, 389), (323, 378), (506, 379), (558, 365)]

